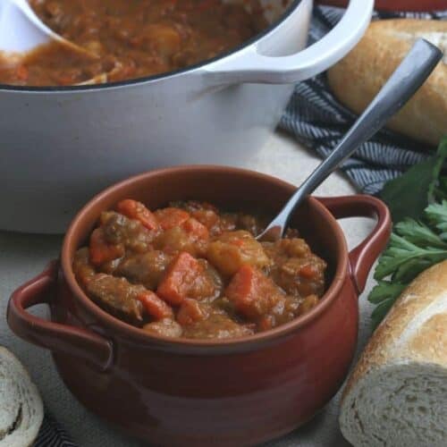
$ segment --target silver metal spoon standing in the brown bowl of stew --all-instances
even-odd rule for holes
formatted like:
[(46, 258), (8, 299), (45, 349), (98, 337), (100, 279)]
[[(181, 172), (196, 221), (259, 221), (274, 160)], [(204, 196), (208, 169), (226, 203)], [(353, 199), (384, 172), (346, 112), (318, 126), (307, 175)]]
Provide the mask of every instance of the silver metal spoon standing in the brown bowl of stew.
[(443, 57), (436, 46), (420, 38), (409, 51), (373, 102), (350, 128), (333, 152), (299, 186), (266, 230), (257, 240), (278, 240), (283, 237), (293, 211), (304, 198), (325, 181), (327, 176), (348, 158), (360, 145), (381, 129), (393, 114), (419, 89)]

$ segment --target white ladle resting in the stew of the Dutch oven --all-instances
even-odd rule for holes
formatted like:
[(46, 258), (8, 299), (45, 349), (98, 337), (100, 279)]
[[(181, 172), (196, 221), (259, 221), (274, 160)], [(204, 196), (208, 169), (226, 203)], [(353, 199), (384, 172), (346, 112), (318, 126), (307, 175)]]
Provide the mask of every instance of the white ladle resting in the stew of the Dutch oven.
[(73, 44), (40, 21), (27, 0), (0, 0), (0, 51), (5, 54), (29, 52), (50, 42), (59, 42), (72, 50), (97, 58), (89, 50)]

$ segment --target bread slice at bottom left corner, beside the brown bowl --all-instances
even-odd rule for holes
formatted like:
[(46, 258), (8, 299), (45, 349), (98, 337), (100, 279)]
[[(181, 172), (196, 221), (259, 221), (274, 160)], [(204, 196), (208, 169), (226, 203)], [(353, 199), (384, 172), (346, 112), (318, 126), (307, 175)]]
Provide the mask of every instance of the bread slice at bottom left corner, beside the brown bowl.
[(0, 347), (0, 447), (28, 447), (38, 436), (44, 407), (21, 362)]

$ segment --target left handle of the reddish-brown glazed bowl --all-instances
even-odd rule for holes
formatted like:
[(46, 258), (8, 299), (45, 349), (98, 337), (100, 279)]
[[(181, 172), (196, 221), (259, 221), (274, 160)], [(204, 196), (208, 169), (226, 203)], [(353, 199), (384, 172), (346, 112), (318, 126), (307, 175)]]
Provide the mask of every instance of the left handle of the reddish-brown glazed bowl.
[(41, 274), (13, 292), (7, 309), (8, 325), (27, 342), (81, 358), (105, 371), (113, 362), (111, 342), (87, 329), (46, 321), (26, 311), (37, 304), (51, 303), (58, 268), (59, 262), (52, 261)]

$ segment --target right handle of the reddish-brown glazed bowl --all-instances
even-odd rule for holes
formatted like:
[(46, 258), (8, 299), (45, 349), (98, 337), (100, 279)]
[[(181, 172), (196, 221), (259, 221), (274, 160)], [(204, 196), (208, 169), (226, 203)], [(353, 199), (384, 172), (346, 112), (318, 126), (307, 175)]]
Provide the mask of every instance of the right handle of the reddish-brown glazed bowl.
[(367, 283), (367, 275), (375, 259), (382, 253), (392, 231), (392, 219), (388, 207), (372, 196), (353, 195), (335, 198), (318, 198), (336, 219), (343, 217), (375, 217), (374, 230), (349, 254), (350, 276), (361, 293)]

